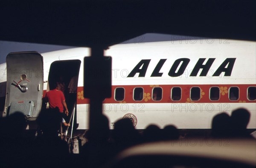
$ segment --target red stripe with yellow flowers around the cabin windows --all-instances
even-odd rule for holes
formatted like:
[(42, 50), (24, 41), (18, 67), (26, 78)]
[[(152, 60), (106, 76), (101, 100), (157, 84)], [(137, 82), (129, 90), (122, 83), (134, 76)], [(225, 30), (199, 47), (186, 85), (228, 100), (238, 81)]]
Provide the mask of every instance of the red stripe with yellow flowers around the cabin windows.
[[(106, 98), (103, 103), (256, 103), (256, 100), (250, 101), (247, 99), (247, 88), (256, 87), (256, 84), (205, 84), (205, 85), (119, 85), (112, 86), (112, 97)], [(125, 98), (123, 101), (116, 101), (114, 99), (114, 92), (116, 87), (123, 87), (125, 89)], [(142, 101), (134, 101), (133, 90), (135, 87), (143, 87), (144, 94)], [(161, 87), (163, 89), (163, 98), (160, 101), (154, 101), (152, 99), (152, 89), (154, 87)], [(173, 101), (171, 99), (172, 87), (181, 88), (181, 99), (179, 101)], [(190, 89), (192, 87), (201, 88), (201, 98), (198, 101), (192, 101), (190, 99)], [(220, 99), (218, 101), (212, 101), (209, 98), (209, 90), (211, 87), (223, 87), (220, 90)], [(228, 97), (230, 87), (239, 87), (239, 99), (231, 101)], [(149, 93), (149, 94), (148, 94)], [(83, 87), (78, 87), (77, 104), (88, 104), (89, 99), (83, 96)]]

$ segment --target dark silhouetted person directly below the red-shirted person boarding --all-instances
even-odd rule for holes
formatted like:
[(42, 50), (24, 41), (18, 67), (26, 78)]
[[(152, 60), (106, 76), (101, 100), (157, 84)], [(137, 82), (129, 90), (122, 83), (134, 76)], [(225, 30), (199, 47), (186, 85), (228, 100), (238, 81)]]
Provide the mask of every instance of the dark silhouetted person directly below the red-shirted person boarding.
[[(35, 139), (34, 167), (66, 167), (69, 158), (67, 142), (58, 136), (61, 123), (61, 114), (58, 111), (46, 109), (41, 111), (37, 122), (43, 132)], [(68, 167), (68, 166), (67, 166)]]

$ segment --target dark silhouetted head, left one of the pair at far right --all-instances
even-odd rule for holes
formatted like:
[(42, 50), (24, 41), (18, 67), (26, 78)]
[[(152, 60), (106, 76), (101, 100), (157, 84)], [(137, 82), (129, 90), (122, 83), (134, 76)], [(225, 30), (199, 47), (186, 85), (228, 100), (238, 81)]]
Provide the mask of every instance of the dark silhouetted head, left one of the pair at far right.
[(212, 136), (215, 138), (227, 137), (230, 134), (230, 116), (220, 113), (212, 119)]

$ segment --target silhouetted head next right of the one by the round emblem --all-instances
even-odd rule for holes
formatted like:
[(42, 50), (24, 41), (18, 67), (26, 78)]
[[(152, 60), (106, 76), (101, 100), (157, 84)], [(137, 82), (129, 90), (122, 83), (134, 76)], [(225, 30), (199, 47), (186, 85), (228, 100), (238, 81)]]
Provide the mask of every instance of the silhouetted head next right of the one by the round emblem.
[(145, 142), (154, 142), (160, 140), (160, 127), (157, 125), (148, 125), (143, 131), (143, 138)]

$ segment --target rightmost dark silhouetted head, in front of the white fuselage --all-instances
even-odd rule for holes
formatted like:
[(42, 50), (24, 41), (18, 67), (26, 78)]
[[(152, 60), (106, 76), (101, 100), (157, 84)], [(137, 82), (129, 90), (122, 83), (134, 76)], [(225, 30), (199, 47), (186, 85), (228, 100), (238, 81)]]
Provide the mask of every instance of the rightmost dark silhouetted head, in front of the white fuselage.
[(239, 129), (246, 129), (250, 121), (250, 113), (244, 108), (234, 110), (231, 114), (232, 126)]

